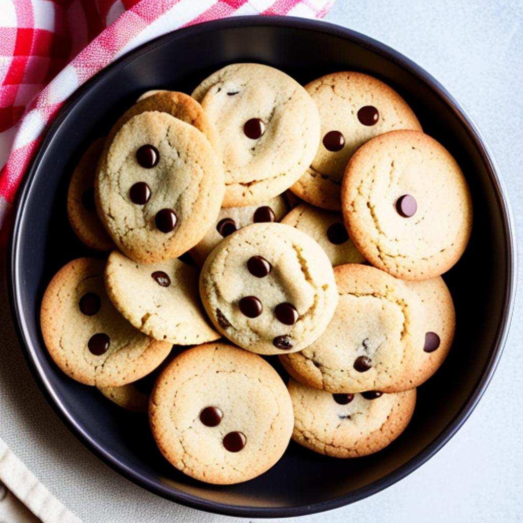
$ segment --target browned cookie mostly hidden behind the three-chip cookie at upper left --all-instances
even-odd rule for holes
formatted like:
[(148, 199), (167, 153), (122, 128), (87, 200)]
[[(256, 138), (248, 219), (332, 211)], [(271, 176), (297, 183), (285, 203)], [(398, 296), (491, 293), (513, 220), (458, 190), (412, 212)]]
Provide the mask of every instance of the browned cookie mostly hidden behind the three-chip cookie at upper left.
[(214, 125), (194, 98), (177, 91), (157, 89), (144, 93), (132, 107), (123, 113), (109, 132), (108, 143), (112, 142), (118, 131), (131, 118), (149, 111), (165, 112), (190, 124), (206, 136), (215, 151), (221, 150), (220, 139)]

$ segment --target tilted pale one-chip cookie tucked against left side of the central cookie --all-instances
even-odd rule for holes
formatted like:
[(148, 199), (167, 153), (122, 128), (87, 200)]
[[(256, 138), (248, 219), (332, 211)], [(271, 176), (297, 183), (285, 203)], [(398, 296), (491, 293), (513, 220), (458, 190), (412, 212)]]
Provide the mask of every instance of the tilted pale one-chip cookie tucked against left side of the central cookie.
[(147, 336), (176, 345), (221, 337), (201, 307), (197, 269), (177, 258), (138, 264), (113, 251), (105, 268), (105, 286), (123, 317)]

